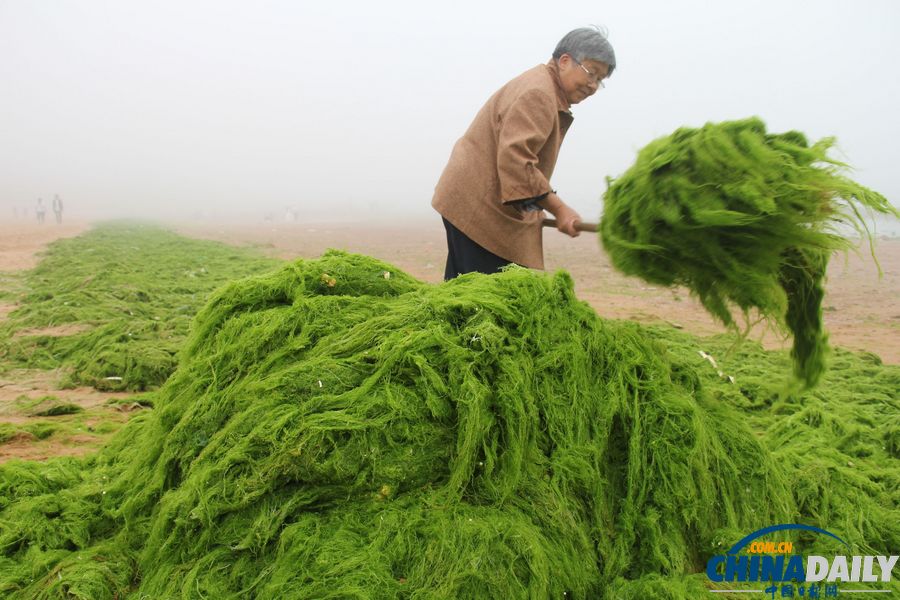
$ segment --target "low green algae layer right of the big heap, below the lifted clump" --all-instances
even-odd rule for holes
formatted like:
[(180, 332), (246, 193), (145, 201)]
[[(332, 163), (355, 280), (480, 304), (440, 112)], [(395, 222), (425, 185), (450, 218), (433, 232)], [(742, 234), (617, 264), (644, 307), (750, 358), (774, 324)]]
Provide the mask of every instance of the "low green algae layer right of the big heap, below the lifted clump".
[[(740, 413), (759, 437), (791, 488), (795, 522), (840, 532), (857, 554), (897, 554), (900, 366), (835, 348), (821, 385), (784, 394), (773, 374), (789, 368), (786, 352), (750, 340), (735, 348), (728, 335), (646, 331), (693, 367), (706, 392)], [(821, 537), (797, 541), (806, 554), (836, 550)], [(893, 585), (900, 592), (896, 578)]]

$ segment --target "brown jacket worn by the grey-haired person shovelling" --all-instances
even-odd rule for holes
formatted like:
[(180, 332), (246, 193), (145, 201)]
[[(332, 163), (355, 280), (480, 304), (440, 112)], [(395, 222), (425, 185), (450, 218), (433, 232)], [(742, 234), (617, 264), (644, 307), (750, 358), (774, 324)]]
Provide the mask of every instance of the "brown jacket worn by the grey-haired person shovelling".
[(542, 212), (506, 203), (551, 191), (572, 119), (556, 62), (525, 71), (491, 96), (456, 142), (431, 205), (497, 256), (543, 269)]

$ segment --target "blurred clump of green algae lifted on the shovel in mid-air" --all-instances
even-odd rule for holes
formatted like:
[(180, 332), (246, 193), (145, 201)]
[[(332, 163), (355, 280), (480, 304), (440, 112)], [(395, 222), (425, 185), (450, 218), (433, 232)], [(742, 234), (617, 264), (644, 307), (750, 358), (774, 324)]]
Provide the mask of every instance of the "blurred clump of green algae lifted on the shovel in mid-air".
[(654, 140), (604, 196), (600, 237), (617, 269), (684, 285), (725, 325), (756, 309), (794, 337), (794, 374), (825, 371), (822, 281), (831, 254), (867, 233), (862, 210), (898, 216), (841, 175), (833, 138), (766, 132), (758, 118), (683, 127)]

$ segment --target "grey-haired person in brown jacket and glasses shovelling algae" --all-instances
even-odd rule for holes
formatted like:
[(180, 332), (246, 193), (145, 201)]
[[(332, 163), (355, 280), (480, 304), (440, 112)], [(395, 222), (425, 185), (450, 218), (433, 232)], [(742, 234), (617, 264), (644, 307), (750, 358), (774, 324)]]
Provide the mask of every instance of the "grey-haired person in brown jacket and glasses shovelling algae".
[(603, 87), (616, 66), (606, 37), (575, 29), (553, 58), (490, 97), (453, 147), (431, 205), (447, 229), (444, 279), (496, 273), (515, 263), (544, 267), (542, 209), (572, 237), (581, 217), (550, 187), (570, 107)]

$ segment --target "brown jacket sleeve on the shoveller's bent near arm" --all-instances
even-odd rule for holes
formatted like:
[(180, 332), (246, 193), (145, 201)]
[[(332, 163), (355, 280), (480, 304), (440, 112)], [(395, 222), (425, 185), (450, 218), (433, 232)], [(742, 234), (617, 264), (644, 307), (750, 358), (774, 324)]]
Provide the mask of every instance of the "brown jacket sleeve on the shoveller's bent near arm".
[(538, 153), (557, 118), (556, 102), (540, 90), (525, 92), (501, 113), (497, 173), (504, 204), (550, 192), (550, 182), (538, 169)]

